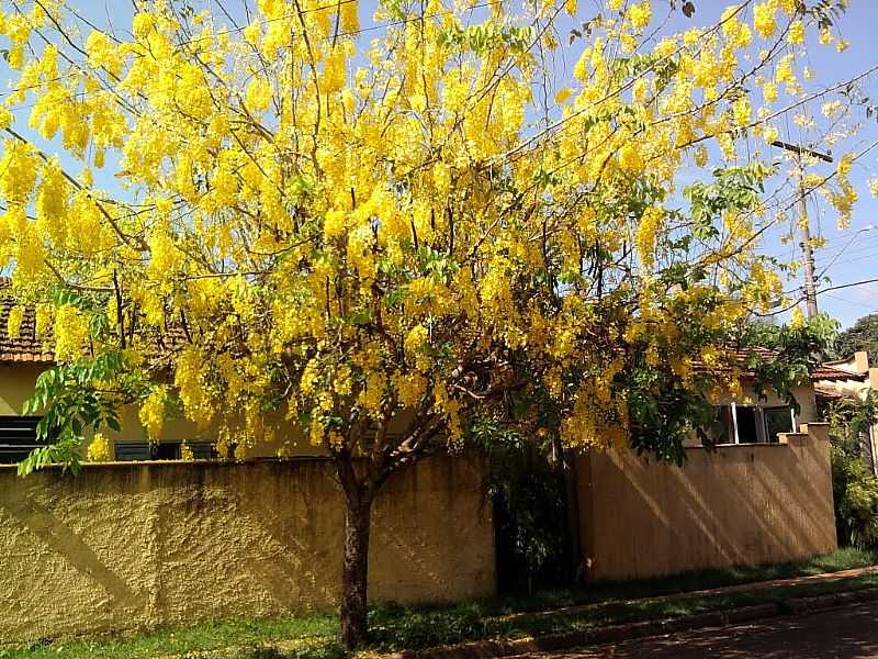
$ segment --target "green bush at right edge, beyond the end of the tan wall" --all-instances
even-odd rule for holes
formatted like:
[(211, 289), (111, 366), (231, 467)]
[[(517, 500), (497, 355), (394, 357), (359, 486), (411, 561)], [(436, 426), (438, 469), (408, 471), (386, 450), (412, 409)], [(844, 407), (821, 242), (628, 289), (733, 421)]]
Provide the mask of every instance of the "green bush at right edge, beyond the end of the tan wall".
[(832, 440), (832, 489), (838, 538), (878, 547), (878, 479), (863, 458), (864, 437), (878, 420), (878, 396), (843, 399), (826, 410)]

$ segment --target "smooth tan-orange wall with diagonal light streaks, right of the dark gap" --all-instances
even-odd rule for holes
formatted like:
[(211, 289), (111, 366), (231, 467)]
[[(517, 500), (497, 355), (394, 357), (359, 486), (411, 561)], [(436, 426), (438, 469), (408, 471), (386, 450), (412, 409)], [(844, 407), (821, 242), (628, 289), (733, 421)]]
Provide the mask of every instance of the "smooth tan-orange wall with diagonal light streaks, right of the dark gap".
[(645, 578), (835, 549), (826, 426), (804, 429), (786, 444), (687, 448), (683, 468), (632, 451), (582, 456), (589, 577)]

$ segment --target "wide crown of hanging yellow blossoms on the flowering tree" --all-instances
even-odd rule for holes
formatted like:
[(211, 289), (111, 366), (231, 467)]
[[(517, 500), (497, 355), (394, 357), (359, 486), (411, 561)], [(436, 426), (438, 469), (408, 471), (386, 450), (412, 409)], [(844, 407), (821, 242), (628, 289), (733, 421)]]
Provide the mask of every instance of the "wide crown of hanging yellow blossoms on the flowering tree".
[[(54, 328), (45, 425), (75, 447), (134, 403), (240, 457), (281, 410), (368, 545), (387, 476), (479, 417), (682, 459), (784, 297), (765, 149), (844, 3), (679, 34), (649, 0), (156, 0), (115, 31), (4, 4), (0, 247)], [(855, 158), (807, 190), (849, 212)]]

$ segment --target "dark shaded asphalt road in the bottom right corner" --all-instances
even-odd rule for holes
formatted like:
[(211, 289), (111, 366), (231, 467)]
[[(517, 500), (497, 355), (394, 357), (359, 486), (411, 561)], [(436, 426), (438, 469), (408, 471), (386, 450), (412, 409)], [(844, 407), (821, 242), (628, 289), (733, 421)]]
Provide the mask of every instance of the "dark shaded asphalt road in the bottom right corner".
[(529, 655), (528, 659), (878, 659), (878, 602), (764, 624)]

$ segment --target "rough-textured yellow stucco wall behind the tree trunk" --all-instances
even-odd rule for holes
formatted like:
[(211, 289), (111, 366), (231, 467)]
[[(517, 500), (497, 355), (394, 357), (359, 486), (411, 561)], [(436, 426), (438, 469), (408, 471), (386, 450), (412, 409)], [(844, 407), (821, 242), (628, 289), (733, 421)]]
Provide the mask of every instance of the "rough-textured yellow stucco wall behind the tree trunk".
[[(494, 592), (481, 462), (396, 474), (372, 529), (373, 599)], [(326, 460), (0, 468), (0, 640), (333, 605), (341, 546)]]

